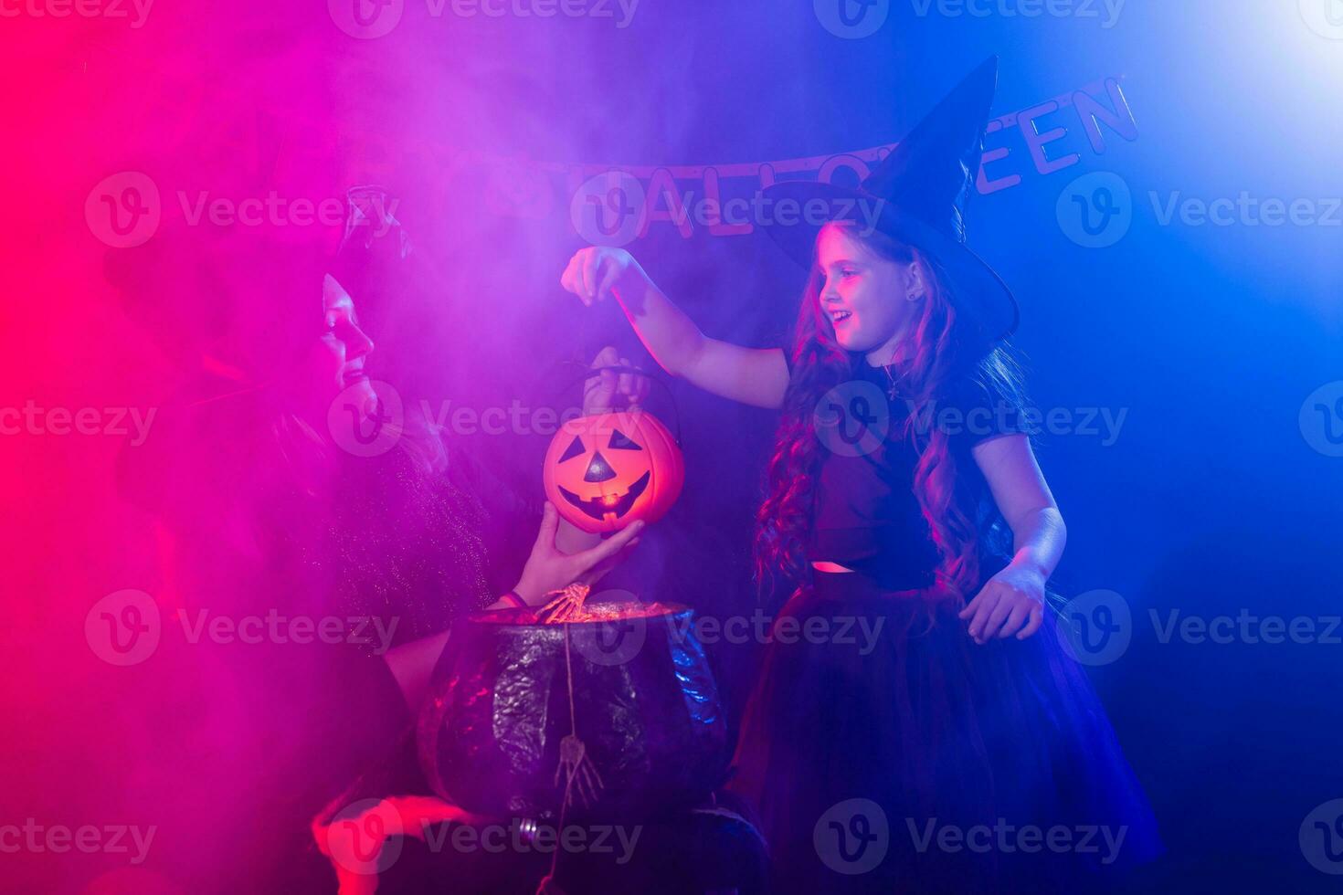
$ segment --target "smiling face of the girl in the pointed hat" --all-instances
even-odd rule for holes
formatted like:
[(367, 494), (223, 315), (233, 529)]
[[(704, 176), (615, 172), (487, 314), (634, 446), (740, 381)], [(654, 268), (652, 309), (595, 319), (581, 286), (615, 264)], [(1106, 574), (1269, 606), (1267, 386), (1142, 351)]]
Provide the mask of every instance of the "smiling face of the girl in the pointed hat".
[(882, 258), (843, 227), (827, 224), (817, 238), (817, 263), (825, 278), (821, 310), (847, 352), (865, 352), (886, 364), (925, 295), (915, 262)]

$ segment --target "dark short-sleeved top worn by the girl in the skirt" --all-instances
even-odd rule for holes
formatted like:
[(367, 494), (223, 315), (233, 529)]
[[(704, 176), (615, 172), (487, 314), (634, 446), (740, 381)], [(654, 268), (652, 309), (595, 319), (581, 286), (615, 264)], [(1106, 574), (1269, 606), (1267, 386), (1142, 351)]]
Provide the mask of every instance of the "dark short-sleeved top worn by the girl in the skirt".
[[(937, 549), (919, 498), (915, 437), (941, 428), (956, 463), (956, 502), (986, 534), (1001, 518), (971, 448), (999, 435), (1023, 432), (1019, 407), (998, 389), (967, 374), (924, 411), (909, 431), (911, 408), (890, 399), (885, 368), (865, 360), (853, 378), (831, 389), (817, 409), (822, 464), (808, 557), (835, 562), (890, 590), (935, 584)], [(920, 439), (920, 443), (925, 437)], [(982, 577), (1006, 565), (980, 538)]]

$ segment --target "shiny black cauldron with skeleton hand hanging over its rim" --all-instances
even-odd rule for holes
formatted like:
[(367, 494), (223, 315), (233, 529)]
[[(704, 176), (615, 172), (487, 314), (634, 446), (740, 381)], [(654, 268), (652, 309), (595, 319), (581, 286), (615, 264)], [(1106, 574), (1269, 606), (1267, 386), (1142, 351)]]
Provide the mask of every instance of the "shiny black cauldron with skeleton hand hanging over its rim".
[(565, 737), (582, 741), (588, 782), (600, 778), (587, 792), (569, 784), (565, 817), (653, 817), (723, 782), (727, 719), (692, 611), (588, 609), (602, 620), (509, 611), (454, 625), (419, 718), (434, 792), (483, 814), (556, 817)]

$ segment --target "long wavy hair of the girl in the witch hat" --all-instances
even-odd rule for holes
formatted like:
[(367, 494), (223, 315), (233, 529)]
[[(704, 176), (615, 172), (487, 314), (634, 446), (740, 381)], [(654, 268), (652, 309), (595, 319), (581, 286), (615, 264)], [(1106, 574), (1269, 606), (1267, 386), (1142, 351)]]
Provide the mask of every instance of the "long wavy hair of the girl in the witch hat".
[[(958, 321), (950, 278), (919, 248), (880, 232), (860, 233), (851, 224), (829, 225), (845, 228), (880, 258), (923, 267), (927, 298), (908, 338), (896, 349), (892, 373), (897, 397), (909, 408), (904, 435), (913, 439), (919, 452), (913, 487), (937, 547), (936, 581), (950, 597), (964, 600), (979, 584), (986, 539), (988, 546), (1001, 549), (1005, 526), (1001, 519), (979, 517), (978, 507), (967, 499), (970, 491), (956, 468), (948, 433), (925, 423), (960, 377), (978, 378), (1019, 408), (1019, 366), (1005, 345), (987, 356), (967, 352), (966, 323)], [(767, 468), (766, 499), (756, 514), (753, 565), (761, 590), (776, 582), (806, 586), (811, 580), (807, 543), (822, 460), (815, 408), (827, 390), (851, 378), (855, 365), (865, 362), (862, 353), (849, 353), (835, 339), (834, 326), (821, 307), (823, 283), (814, 262), (798, 315), (792, 374)]]

